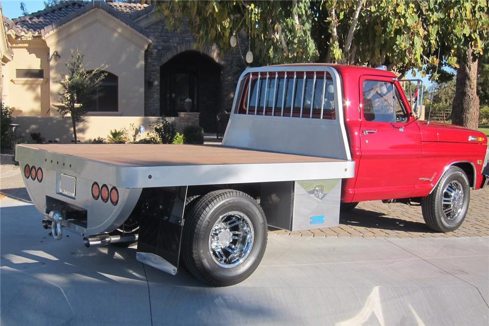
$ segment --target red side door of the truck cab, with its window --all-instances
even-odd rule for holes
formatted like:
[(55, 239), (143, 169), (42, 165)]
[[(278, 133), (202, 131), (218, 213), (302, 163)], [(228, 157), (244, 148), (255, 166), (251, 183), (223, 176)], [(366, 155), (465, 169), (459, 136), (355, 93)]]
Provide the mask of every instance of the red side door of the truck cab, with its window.
[[(413, 194), (421, 167), (421, 132), (392, 78), (360, 79), (360, 149), (354, 201)], [(402, 94), (402, 95), (401, 95)]]

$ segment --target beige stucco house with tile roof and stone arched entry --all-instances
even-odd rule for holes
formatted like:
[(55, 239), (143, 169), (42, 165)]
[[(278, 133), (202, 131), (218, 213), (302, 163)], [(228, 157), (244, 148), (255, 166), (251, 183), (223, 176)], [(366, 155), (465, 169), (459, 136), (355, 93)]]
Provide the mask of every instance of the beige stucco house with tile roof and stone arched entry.
[[(82, 141), (131, 123), (148, 128), (160, 116), (180, 125), (198, 120), (214, 131), (216, 114), (231, 108), (245, 68), (237, 49), (224, 56), (215, 46), (196, 50), (188, 28), (166, 29), (154, 3), (63, 1), (13, 20), (3, 17), (2, 35), (3, 103), (14, 109), (20, 132), (59, 142), (72, 137), (69, 119), (57, 110), (58, 81), (71, 50), (85, 56), (88, 68), (108, 65), (103, 95), (77, 128)], [(178, 117), (186, 99), (196, 113)]]

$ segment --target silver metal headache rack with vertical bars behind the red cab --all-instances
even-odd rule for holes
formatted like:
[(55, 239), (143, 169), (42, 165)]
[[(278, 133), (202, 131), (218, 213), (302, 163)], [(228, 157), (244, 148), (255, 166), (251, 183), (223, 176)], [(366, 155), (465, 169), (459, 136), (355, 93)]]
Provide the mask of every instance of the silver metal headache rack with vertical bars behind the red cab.
[(331, 65), (248, 68), (223, 146), (351, 160), (341, 78)]

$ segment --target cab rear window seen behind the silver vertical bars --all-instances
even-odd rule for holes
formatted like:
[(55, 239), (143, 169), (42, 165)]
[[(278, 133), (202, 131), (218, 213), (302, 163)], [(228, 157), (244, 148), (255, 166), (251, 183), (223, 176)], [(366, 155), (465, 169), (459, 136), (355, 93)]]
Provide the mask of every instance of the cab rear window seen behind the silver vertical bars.
[(334, 87), (324, 72), (256, 72), (242, 84), (238, 114), (335, 119)]

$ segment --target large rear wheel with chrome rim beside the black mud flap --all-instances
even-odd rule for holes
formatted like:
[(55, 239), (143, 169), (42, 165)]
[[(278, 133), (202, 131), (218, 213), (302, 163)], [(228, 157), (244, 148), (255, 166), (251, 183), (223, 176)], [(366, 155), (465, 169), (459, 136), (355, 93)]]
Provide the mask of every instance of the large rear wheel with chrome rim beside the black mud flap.
[(205, 283), (228, 286), (244, 281), (258, 267), (266, 246), (265, 214), (243, 192), (210, 192), (185, 214), (182, 260)]

